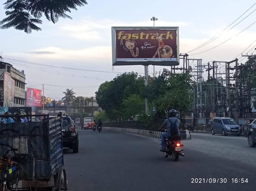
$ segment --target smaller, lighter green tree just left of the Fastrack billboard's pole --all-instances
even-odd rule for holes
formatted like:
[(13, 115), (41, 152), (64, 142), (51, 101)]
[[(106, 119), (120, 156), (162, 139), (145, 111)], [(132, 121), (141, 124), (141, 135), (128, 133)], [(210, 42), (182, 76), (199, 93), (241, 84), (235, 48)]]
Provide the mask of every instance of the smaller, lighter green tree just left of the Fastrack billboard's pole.
[(145, 113), (145, 101), (138, 94), (131, 94), (128, 98), (123, 99), (123, 116), (133, 121), (135, 115)]

